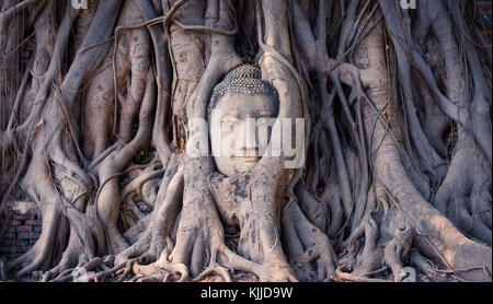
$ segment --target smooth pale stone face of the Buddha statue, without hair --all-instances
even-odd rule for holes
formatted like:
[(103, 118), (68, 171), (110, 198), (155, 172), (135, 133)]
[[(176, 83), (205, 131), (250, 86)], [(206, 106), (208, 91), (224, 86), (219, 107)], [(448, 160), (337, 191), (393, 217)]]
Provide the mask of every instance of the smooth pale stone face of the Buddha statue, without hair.
[(210, 112), (209, 130), (217, 169), (226, 176), (249, 171), (271, 138), (277, 103), (264, 94), (226, 93)]

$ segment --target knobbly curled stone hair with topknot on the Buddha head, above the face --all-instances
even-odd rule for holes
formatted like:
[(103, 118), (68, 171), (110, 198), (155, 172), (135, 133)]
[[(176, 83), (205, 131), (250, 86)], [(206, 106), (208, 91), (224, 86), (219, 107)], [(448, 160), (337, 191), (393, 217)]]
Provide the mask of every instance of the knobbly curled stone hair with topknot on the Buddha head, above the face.
[(279, 98), (276, 89), (265, 80), (262, 80), (262, 72), (254, 65), (241, 65), (229, 71), (221, 82), (213, 90), (213, 95), (207, 107), (207, 119), (216, 106), (217, 102), (227, 93), (239, 93), (246, 95), (266, 95), (278, 107)]

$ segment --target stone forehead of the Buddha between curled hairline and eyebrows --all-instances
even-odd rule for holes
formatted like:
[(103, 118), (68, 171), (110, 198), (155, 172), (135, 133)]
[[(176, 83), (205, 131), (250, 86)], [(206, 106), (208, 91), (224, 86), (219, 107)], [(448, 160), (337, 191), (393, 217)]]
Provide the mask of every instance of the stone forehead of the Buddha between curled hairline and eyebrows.
[(228, 92), (211, 108), (211, 116), (221, 118), (274, 117), (277, 115), (277, 101), (266, 94), (244, 94)]

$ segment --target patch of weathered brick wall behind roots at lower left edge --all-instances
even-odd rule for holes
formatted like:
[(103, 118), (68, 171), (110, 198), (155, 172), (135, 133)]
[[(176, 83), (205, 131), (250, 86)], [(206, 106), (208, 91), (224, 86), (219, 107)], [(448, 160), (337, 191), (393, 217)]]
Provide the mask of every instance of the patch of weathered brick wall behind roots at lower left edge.
[(16, 257), (27, 252), (42, 231), (41, 212), (31, 201), (9, 201), (10, 225), (0, 239), (0, 256)]

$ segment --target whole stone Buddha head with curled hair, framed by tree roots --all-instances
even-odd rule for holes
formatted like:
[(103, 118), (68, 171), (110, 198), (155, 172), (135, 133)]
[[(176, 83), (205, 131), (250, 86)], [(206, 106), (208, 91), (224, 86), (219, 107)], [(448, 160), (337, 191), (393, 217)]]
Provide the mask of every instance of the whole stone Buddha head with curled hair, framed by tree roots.
[(277, 92), (261, 79), (257, 67), (242, 65), (226, 74), (207, 108), (214, 161), (220, 173), (230, 176), (255, 166), (278, 110)]

